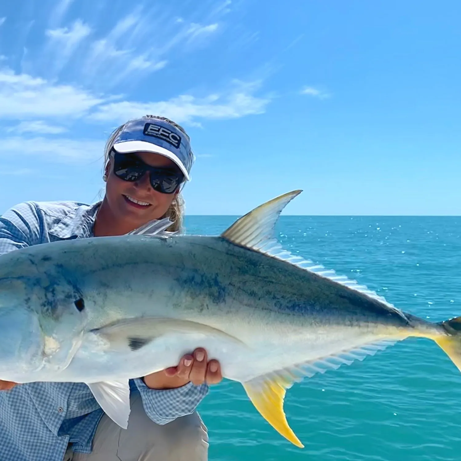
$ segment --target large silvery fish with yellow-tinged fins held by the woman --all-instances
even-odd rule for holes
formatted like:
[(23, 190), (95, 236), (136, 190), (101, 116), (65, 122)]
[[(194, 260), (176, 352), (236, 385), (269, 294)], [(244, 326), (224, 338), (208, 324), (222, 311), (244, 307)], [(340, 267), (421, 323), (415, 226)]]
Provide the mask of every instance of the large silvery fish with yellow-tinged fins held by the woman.
[(274, 235), (301, 190), (280, 195), (217, 236), (165, 231), (48, 242), (0, 256), (0, 379), (83, 382), (126, 428), (129, 379), (197, 347), (242, 384), (275, 431), (304, 447), (287, 390), (316, 373), (425, 337), (461, 370), (461, 317), (429, 322)]

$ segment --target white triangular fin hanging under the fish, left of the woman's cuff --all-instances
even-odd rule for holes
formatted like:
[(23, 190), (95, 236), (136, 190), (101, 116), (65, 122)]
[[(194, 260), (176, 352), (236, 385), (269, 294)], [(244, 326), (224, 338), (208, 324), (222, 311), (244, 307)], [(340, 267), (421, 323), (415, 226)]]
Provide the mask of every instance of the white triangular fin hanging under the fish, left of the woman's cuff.
[(96, 402), (118, 426), (126, 429), (130, 416), (130, 385), (128, 380), (87, 383)]

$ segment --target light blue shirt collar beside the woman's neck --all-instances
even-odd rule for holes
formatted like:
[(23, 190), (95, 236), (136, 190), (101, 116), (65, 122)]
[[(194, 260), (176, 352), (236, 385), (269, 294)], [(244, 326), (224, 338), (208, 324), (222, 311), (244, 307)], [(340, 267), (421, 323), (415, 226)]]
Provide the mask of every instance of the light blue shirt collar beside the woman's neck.
[(77, 207), (65, 218), (53, 226), (49, 233), (62, 239), (83, 238), (93, 236), (93, 225), (101, 201), (87, 207)]

